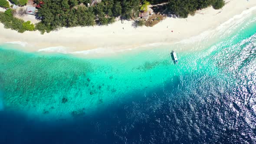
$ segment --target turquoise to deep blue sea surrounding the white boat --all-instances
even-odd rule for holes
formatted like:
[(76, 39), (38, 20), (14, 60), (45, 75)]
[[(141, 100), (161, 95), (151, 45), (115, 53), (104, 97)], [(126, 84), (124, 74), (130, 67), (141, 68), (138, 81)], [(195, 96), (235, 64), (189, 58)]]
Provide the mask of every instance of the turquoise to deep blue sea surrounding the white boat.
[(256, 143), (255, 13), (101, 58), (15, 47), (0, 45), (1, 144)]

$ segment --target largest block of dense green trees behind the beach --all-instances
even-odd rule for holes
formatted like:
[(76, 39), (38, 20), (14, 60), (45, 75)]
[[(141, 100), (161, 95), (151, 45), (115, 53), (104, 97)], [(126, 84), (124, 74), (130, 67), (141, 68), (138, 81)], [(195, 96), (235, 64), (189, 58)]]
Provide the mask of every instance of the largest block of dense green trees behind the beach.
[[(37, 0), (39, 3), (40, 0)], [(106, 25), (115, 17), (130, 19), (138, 15), (140, 0), (102, 0), (93, 7), (87, 7), (91, 0), (43, 0), (38, 11), (42, 20), (36, 25), (40, 31), (51, 31), (59, 27)]]

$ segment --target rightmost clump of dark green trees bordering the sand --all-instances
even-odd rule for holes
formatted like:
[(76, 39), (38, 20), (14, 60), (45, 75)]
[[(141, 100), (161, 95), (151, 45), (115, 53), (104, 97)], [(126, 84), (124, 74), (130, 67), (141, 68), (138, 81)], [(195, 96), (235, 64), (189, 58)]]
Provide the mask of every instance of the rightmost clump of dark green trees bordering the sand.
[(194, 15), (196, 10), (209, 6), (220, 9), (224, 4), (224, 0), (169, 0), (167, 8), (177, 16), (186, 18), (189, 14)]

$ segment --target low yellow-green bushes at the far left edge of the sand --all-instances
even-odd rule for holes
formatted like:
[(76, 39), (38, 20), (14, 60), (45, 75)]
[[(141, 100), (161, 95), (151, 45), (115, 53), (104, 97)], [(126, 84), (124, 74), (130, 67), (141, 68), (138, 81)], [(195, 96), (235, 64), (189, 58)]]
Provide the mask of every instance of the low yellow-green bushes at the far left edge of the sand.
[(26, 30), (33, 31), (35, 26), (30, 24), (30, 21), (24, 22), (21, 19), (13, 17), (13, 10), (8, 9), (4, 13), (0, 12), (0, 22), (7, 29), (14, 29), (19, 33), (24, 33)]

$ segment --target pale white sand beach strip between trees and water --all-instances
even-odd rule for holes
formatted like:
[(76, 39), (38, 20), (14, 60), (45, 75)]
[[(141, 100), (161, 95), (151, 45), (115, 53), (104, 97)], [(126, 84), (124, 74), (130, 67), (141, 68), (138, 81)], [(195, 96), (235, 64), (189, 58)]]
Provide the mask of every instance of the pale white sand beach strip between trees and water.
[(219, 26), (240, 18), (237, 15), (246, 10), (256, 10), (256, 1), (227, 0), (220, 10), (208, 7), (198, 10), (194, 16), (186, 19), (167, 17), (153, 27), (134, 28), (133, 21), (126, 20), (121, 24), (118, 20), (108, 26), (62, 28), (44, 35), (39, 31), (18, 33), (5, 29), (0, 23), (0, 43), (21, 44), (23, 46), (17, 49), (27, 52), (113, 54), (147, 45), (183, 43), (186, 39), (214, 31)]

